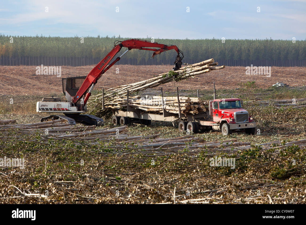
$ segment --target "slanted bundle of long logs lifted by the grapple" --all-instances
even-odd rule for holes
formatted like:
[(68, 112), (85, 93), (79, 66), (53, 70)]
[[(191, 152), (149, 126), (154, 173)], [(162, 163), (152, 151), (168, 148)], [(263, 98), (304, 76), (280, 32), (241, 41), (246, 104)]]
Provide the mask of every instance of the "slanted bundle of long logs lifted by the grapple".
[[(116, 101), (116, 99), (124, 98), (124, 96), (127, 96), (128, 92), (129, 94), (132, 94), (134, 92), (143, 91), (147, 88), (155, 88), (171, 81), (181, 81), (188, 79), (189, 77), (208, 73), (211, 70), (224, 68), (225, 66), (218, 66), (218, 62), (214, 62), (214, 59), (211, 58), (203, 62), (187, 65), (177, 71), (169, 71), (167, 73), (159, 74), (157, 77), (153, 77), (145, 81), (110, 88), (104, 93), (104, 101), (113, 102)], [(90, 114), (93, 111), (103, 111), (102, 94), (91, 96), (90, 98), (91, 100), (88, 105), (90, 110), (88, 113)]]

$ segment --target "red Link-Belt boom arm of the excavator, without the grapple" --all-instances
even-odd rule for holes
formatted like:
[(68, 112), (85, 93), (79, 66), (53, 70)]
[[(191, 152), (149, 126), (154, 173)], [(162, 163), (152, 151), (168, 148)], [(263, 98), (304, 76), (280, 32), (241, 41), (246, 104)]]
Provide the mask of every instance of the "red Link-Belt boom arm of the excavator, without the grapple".
[[(85, 78), (82, 86), (76, 92), (76, 96), (73, 97), (72, 102), (76, 104), (78, 100), (86, 93), (84, 98), (84, 105), (86, 104), (89, 96), (91, 95), (92, 88), (97, 83), (99, 78), (105, 73), (111, 66), (113, 66), (116, 62), (120, 60), (120, 57), (117, 57), (114, 62), (112, 62), (109, 66), (109, 62), (114, 58), (114, 56), (121, 50), (122, 47), (127, 47), (128, 50), (133, 48), (140, 49), (140, 50), (149, 50), (154, 51), (152, 57), (154, 58), (155, 55), (162, 53), (163, 51), (168, 51), (174, 49), (177, 51), (177, 57), (180, 55), (180, 50), (175, 45), (164, 45), (159, 44), (156, 42), (150, 42), (140, 39), (129, 39), (120, 42), (119, 44), (115, 44), (114, 48), (88, 73), (87, 77)], [(153, 47), (153, 48), (149, 48)], [(159, 48), (159, 49), (155, 49)], [(121, 55), (122, 56), (122, 55)], [(107, 67), (106, 67), (107, 66)]]

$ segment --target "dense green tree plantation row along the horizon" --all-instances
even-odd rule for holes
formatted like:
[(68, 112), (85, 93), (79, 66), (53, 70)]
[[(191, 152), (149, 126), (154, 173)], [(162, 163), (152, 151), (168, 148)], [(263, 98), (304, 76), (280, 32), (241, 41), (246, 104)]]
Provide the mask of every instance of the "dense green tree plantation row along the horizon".
[[(0, 65), (34, 65), (43, 61), (69, 65), (89, 65), (102, 59), (113, 47), (114, 41), (130, 38), (119, 37), (45, 37), (0, 35)], [(141, 39), (141, 38), (140, 38)], [(184, 62), (197, 62), (208, 58), (229, 62), (230, 66), (259, 62), (281, 66), (303, 66), (306, 62), (306, 40), (273, 39), (154, 39), (162, 44), (176, 45), (184, 53)], [(172, 64), (174, 50), (163, 52), (151, 59), (151, 51), (129, 51), (122, 62), (133, 65)], [(35, 61), (34, 61), (35, 60)], [(11, 61), (11, 62), (9, 62)], [(67, 64), (68, 63), (68, 64)], [(72, 63), (70, 63), (71, 66)], [(304, 65), (306, 66), (306, 64)]]

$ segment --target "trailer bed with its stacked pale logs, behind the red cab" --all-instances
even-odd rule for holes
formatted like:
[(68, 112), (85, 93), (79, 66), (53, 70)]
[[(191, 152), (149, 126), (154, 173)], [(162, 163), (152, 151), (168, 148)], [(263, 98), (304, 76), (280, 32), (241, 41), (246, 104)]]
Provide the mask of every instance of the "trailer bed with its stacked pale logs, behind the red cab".
[[(199, 96), (199, 92), (198, 92)], [(102, 97), (103, 110), (111, 110), (114, 125), (127, 125), (141, 123), (151, 125), (151, 120), (179, 122), (179, 130), (197, 133), (200, 130), (211, 129), (209, 125), (201, 126), (201, 121), (211, 117), (211, 100), (201, 100), (199, 97), (177, 96), (164, 97), (161, 88), (161, 96), (133, 96), (114, 98), (113, 101), (104, 100)], [(213, 121), (208, 121), (214, 123)]]

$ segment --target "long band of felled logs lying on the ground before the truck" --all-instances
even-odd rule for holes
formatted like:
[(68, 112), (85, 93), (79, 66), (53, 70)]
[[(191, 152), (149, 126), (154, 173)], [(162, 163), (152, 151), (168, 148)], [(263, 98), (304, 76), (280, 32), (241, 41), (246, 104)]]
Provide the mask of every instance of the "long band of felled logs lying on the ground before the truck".
[[(239, 142), (237, 139), (206, 142), (204, 139), (192, 135), (174, 138), (160, 138), (159, 134), (131, 136), (128, 134), (127, 126), (95, 129), (95, 126), (69, 126), (62, 119), (32, 124), (5, 124), (1, 125), (0, 129), (0, 140), (9, 140), (12, 136), (10, 132), (12, 129), (15, 131), (14, 136), (20, 137), (20, 140), (24, 140), (24, 134), (37, 135), (37, 131), (40, 131), (42, 138), (39, 142), (49, 143), (50, 139), (69, 139), (91, 149), (91, 146), (94, 148), (94, 145), (104, 141), (109, 143), (109, 148), (118, 155), (142, 154), (152, 157), (153, 155), (188, 154), (192, 156), (203, 152), (203, 149), (207, 152), (207, 156), (214, 156), (220, 152), (232, 155), (254, 147), (250, 142)], [(83, 140), (86, 142), (79, 142)], [(306, 139), (290, 141), (285, 144), (277, 140), (255, 144), (255, 146), (260, 147), (263, 152), (274, 148), (274, 153), (277, 154), (282, 148), (293, 144), (300, 148), (306, 148)], [(110, 154), (110, 152), (101, 151), (99, 154)]]

